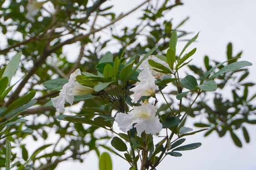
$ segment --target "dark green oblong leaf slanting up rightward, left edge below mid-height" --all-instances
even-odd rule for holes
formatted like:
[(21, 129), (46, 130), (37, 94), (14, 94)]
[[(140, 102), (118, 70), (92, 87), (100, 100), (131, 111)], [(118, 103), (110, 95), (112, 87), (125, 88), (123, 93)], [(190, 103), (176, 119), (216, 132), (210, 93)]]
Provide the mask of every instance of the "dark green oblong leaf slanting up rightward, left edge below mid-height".
[(5, 112), (3, 113), (3, 116), (9, 113), (11, 110), (14, 110), (15, 108), (24, 105), (25, 103), (29, 102), (33, 97), (35, 96), (35, 91), (30, 91), (30, 93), (23, 95), (18, 100), (15, 100), (13, 103), (11, 103)]

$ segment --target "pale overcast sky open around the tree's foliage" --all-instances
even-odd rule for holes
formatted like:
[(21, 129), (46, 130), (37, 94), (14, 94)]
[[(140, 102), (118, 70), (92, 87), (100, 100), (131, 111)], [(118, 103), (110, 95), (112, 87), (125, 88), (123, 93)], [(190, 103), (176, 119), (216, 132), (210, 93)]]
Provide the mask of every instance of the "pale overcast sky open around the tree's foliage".
[[(256, 70), (256, 1), (255, 0), (182, 0), (184, 5), (174, 8), (166, 18), (173, 18), (173, 23), (178, 24), (181, 20), (189, 16), (189, 20), (181, 28), (191, 31), (194, 34), (200, 31), (197, 42), (190, 46), (190, 49), (197, 48), (193, 55), (192, 64), (203, 65), (205, 55), (210, 58), (224, 61), (226, 60), (226, 45), (233, 44), (233, 52), (237, 54), (243, 50), (242, 60), (250, 61), (253, 65), (249, 68), (250, 77), (247, 80), (254, 80), (253, 74)], [(138, 0), (111, 0), (115, 11), (125, 12), (141, 3)], [(136, 12), (116, 26), (122, 27), (136, 23), (136, 18), (140, 12)], [(181, 51), (185, 42), (178, 42), (177, 51)], [(115, 49), (113, 49), (115, 50)], [(68, 53), (74, 51), (66, 50)], [(256, 91), (256, 88), (252, 88)], [(224, 91), (226, 96), (230, 92)], [(252, 95), (252, 94), (251, 94)], [(193, 123), (198, 121), (189, 119), (187, 127), (193, 128)], [(158, 166), (157, 170), (256, 170), (256, 127), (246, 125), (251, 141), (246, 144), (241, 131), (238, 133), (242, 139), (243, 147), (238, 148), (231, 140), (230, 134), (219, 138), (216, 133), (208, 137), (203, 137), (204, 133), (198, 133), (186, 138), (185, 144), (201, 142), (202, 146), (196, 150), (183, 151), (181, 157), (166, 157)], [(105, 150), (101, 150), (102, 152)], [(129, 164), (121, 158), (112, 155), (113, 170), (128, 170)], [(98, 158), (95, 152), (85, 156), (83, 163), (64, 162), (57, 166), (56, 170), (98, 170)]]

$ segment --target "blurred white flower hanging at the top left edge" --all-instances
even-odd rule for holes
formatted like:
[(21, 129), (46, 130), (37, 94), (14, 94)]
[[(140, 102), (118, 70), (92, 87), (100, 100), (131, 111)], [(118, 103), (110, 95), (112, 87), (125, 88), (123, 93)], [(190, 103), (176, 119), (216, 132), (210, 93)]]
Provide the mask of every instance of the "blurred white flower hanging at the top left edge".
[(44, 2), (37, 2), (36, 0), (30, 0), (28, 5), (26, 6), (27, 14), (25, 18), (35, 22), (34, 16), (39, 12), (40, 7), (45, 3)]

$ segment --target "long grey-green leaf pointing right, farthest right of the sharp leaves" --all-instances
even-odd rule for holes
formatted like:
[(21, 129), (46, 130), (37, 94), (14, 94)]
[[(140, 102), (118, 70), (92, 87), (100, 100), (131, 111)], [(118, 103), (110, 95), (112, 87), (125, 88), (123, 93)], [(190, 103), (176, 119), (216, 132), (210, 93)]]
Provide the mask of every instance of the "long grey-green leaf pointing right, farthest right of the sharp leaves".
[(237, 61), (235, 63), (231, 63), (230, 65), (227, 65), (225, 67), (223, 67), (221, 70), (219, 70), (218, 72), (216, 72), (214, 75), (212, 75), (209, 80), (213, 79), (214, 77), (230, 72), (230, 71), (236, 71), (242, 67), (246, 67), (246, 66), (250, 66), (252, 65), (250, 62), (248, 61)]

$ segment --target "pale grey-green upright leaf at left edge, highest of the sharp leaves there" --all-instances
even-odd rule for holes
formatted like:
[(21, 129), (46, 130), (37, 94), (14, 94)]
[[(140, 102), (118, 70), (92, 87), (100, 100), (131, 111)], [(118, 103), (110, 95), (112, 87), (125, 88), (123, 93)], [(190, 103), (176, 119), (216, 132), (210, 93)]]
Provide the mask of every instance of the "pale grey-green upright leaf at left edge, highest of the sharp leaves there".
[(8, 63), (8, 65), (5, 68), (5, 71), (3, 73), (2, 77), (8, 77), (8, 85), (10, 83), (11, 78), (15, 74), (16, 70), (18, 69), (20, 58), (21, 58), (22, 52), (17, 53), (14, 55), (12, 60)]

